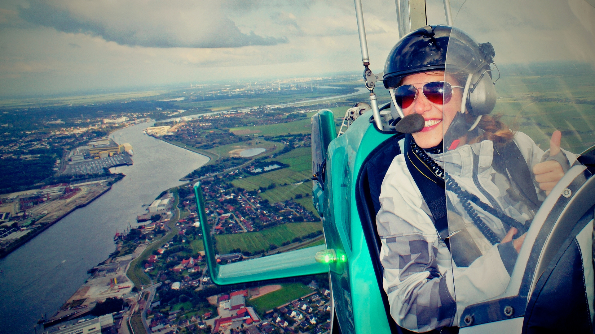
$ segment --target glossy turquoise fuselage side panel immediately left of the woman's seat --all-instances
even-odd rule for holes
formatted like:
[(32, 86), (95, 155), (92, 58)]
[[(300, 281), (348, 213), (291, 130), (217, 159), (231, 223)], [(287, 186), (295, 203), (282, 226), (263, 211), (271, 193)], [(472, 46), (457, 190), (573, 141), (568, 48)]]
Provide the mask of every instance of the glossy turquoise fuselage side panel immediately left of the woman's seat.
[(330, 265), (337, 318), (343, 334), (390, 333), (368, 244), (359, 220), (355, 182), (364, 159), (392, 134), (368, 122), (368, 111), (331, 141), (327, 150), (324, 226), (327, 248), (343, 250), (346, 263)]

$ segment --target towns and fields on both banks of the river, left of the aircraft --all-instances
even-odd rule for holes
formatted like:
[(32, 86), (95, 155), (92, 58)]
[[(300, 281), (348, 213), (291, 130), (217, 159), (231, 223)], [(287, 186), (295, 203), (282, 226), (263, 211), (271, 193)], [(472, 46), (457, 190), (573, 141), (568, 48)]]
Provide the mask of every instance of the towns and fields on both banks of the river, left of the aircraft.
[[(51, 133), (27, 130), (26, 140), (3, 146), (5, 160), (29, 162), (26, 159), (49, 157), (52, 161), (52, 172), (43, 175), (48, 177), (40, 175), (35, 180), (36, 184), (46, 185), (2, 196), (1, 208), (5, 209), (0, 210), (6, 212), (2, 216), (6, 222), (0, 231), (4, 232), (2, 242), (7, 254), (30, 240), (35, 232), (48, 228), (51, 223), (44, 222), (49, 218), (54, 218), (52, 223), (60, 221), (68, 215), (66, 209), (90, 203), (126, 178), (126, 172), (118, 172), (126, 169), (118, 168), (133, 166), (137, 150), (117, 135), (122, 128), (150, 125), (146, 121), (153, 117), (157, 121), (144, 128), (145, 140), (156, 138), (210, 159), (187, 175), (180, 175), (181, 185), (143, 204), (142, 210), (137, 210), (136, 222), (116, 231), (115, 250), (108, 259), (90, 268), (91, 276), (83, 285), (58, 311), (43, 314), (39, 323), (50, 333), (64, 326), (69, 330), (84, 327), (93, 319), (100, 319), (102, 332), (109, 333), (127, 333), (129, 329), (135, 334), (172, 330), (327, 332), (331, 306), (326, 275), (281, 279), (267, 285), (212, 284), (192, 185), (201, 180), (219, 264), (324, 244), (311, 197), (309, 116), (322, 106), (337, 108), (341, 103), (317, 105), (308, 100), (344, 92), (347, 97), (342, 99), (349, 99), (354, 90), (319, 87), (327, 87), (326, 81), (350, 87), (352, 78), (281, 80), (276, 84), (251, 84), (251, 88), (250, 84), (227, 85), (218, 90), (207, 85), (193, 86), (191, 92), (187, 89), (174, 93), (183, 97), (152, 99), (155, 102), (151, 103), (170, 105), (154, 107), (151, 112), (130, 108), (93, 119), (62, 116), (60, 121), (45, 123), (54, 127)], [(209, 95), (203, 97), (201, 92), (206, 90)], [(204, 108), (198, 105), (203, 100), (221, 103), (224, 99), (234, 106), (236, 99), (253, 95), (268, 97), (272, 103), (196, 114)], [(101, 108), (102, 114), (108, 110), (100, 103), (80, 108), (87, 109), (83, 112)], [(66, 127), (68, 124), (77, 125)], [(36, 152), (42, 144), (45, 152), (39, 156), (27, 154)], [(63, 182), (52, 184), (57, 181)], [(93, 193), (95, 189), (103, 192)], [(79, 193), (95, 197), (77, 196)], [(104, 316), (106, 311), (101, 310), (120, 311)], [(100, 317), (96, 318), (96, 314)]]

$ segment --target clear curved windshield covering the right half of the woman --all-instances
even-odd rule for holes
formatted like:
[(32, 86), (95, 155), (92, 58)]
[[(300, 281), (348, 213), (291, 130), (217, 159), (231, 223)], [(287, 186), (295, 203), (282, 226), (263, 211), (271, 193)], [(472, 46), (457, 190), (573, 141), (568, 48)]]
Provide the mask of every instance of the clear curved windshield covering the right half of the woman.
[(536, 242), (525, 232), (577, 154), (595, 144), (595, 8), (582, 0), (452, 4), (445, 152), (433, 157), (446, 172), (461, 317), (469, 305), (518, 293), (507, 290), (515, 273), (535, 265), (519, 256)]

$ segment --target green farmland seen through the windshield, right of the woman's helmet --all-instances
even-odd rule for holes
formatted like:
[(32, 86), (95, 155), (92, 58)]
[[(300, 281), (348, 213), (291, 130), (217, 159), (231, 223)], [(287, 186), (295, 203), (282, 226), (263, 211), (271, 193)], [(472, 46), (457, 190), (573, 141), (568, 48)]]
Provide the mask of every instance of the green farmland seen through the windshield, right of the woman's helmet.
[[(549, 148), (553, 131), (562, 131), (561, 147), (581, 153), (595, 144), (595, 84), (592, 73), (508, 75), (496, 84), (499, 99), (492, 114)], [(578, 103), (583, 99), (588, 103)]]

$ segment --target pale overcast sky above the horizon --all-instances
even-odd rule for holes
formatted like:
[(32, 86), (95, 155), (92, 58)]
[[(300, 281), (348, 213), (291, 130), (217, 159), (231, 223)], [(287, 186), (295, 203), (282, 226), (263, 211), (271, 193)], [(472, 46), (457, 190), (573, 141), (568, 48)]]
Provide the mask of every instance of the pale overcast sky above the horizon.
[[(398, 40), (394, 0), (363, 2), (372, 69), (381, 71)], [(532, 41), (543, 39), (543, 29), (556, 36), (583, 29), (575, 42), (593, 42), (595, 9), (583, 0), (541, 8), (540, 17), (556, 21), (543, 27), (522, 6), (512, 15), (494, 2), (483, 8), (468, 0), (460, 12), (464, 1), (451, 2), (461, 26), (480, 42), (502, 44), (496, 51), (503, 55), (518, 52), (509, 40), (519, 31)], [(445, 23), (441, 1), (427, 0), (427, 7), (429, 23)], [(569, 46), (521, 53), (568, 58)], [(583, 53), (589, 58), (593, 50)], [(0, 96), (361, 70), (350, 0), (2, 0), (0, 59)]]

